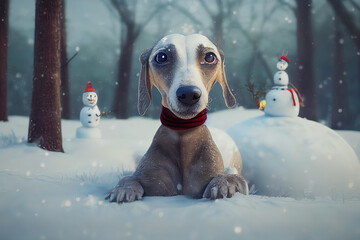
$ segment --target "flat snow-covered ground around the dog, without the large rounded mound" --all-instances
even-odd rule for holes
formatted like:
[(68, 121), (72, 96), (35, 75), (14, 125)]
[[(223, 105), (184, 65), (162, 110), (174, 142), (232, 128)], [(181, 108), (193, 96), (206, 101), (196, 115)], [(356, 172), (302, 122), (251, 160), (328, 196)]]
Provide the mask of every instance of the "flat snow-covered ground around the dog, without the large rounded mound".
[[(238, 108), (210, 114), (207, 124), (228, 130), (260, 115)], [(80, 125), (63, 121), (63, 154), (27, 144), (26, 117), (0, 123), (0, 239), (360, 239), (356, 195), (108, 203), (106, 192), (134, 170), (160, 122), (102, 119), (97, 140), (75, 138)], [(359, 158), (360, 132), (337, 133)]]

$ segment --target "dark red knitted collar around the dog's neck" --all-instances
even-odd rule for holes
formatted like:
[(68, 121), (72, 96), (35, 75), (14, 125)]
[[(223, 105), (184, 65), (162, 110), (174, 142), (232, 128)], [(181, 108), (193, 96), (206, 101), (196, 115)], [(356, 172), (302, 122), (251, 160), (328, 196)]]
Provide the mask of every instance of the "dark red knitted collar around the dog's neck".
[(162, 107), (160, 121), (163, 125), (173, 130), (185, 130), (202, 125), (206, 120), (206, 108), (191, 119), (182, 119), (173, 114), (166, 107)]

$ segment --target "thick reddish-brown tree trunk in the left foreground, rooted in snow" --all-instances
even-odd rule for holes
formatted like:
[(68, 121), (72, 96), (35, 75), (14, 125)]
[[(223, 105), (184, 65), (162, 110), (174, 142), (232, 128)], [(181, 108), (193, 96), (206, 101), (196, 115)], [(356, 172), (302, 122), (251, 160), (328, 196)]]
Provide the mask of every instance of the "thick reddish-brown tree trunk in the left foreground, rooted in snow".
[(63, 152), (60, 104), (61, 0), (36, 0), (34, 78), (28, 142)]

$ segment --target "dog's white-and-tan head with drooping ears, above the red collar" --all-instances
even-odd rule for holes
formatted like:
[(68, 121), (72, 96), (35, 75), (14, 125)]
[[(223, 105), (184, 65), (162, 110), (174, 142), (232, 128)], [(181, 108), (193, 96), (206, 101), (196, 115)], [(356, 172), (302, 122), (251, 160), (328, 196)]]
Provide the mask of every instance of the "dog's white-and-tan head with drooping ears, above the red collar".
[(223, 52), (203, 35), (162, 38), (140, 56), (140, 115), (151, 104), (153, 86), (162, 96), (162, 105), (179, 118), (190, 119), (206, 108), (215, 82), (223, 89), (226, 105), (233, 107), (236, 100), (226, 82), (224, 61)]

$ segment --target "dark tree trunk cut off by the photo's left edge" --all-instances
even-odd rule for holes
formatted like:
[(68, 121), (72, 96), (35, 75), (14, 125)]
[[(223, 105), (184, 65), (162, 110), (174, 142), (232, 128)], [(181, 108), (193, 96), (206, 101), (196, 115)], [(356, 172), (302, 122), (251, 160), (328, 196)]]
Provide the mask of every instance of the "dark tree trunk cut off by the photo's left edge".
[(7, 52), (9, 34), (9, 0), (0, 0), (0, 121), (7, 115)]

